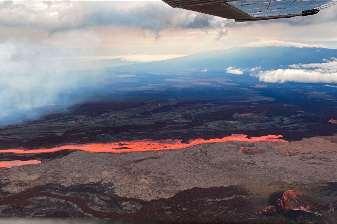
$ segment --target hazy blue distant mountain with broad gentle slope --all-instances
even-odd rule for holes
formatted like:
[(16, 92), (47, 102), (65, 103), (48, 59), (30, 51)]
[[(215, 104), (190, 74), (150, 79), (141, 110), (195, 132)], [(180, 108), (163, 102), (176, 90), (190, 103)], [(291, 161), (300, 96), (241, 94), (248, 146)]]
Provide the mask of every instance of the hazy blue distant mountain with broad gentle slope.
[[(294, 63), (322, 62), (337, 57), (337, 49), (296, 47), (235, 47), (192, 54), (162, 61), (115, 67), (121, 72), (183, 72), (191, 70), (225, 71), (226, 68), (253, 68), (264, 70), (286, 67)], [(284, 68), (283, 67), (283, 68)]]

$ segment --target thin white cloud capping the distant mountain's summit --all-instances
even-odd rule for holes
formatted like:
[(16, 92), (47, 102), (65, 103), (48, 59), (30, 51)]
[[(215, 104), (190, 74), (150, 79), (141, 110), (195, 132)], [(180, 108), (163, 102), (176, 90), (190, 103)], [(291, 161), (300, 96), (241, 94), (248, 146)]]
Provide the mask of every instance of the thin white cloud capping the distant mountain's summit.
[(250, 42), (243, 45), (244, 47), (324, 47), (323, 44), (303, 44), (303, 43), (296, 43), (296, 42), (287, 42), (287, 41), (279, 41), (279, 40), (264, 40), (264, 41), (257, 41), (257, 42)]

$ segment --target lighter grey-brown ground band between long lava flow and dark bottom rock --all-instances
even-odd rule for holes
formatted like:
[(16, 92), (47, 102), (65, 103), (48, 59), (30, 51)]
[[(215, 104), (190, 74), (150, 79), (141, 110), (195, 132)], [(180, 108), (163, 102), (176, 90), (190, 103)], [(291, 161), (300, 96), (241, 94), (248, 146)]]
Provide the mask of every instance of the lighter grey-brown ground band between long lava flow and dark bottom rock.
[[(151, 200), (193, 187), (335, 181), (335, 154), (276, 155), (270, 144), (276, 143), (208, 143), (160, 153), (75, 151), (37, 165), (3, 168), (1, 182), (6, 186), (2, 190), (17, 193), (37, 185), (103, 181), (114, 183), (120, 196)], [(266, 153), (239, 153), (243, 146)]]

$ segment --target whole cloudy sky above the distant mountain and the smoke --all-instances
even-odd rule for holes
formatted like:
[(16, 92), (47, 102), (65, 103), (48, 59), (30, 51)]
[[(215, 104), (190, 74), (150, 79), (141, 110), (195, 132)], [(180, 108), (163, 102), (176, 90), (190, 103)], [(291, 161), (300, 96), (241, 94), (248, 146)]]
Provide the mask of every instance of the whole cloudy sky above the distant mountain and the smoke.
[(336, 7), (312, 16), (235, 23), (162, 1), (0, 1), (0, 44), (68, 61), (152, 61), (285, 42), (337, 48), (337, 29), (331, 29)]

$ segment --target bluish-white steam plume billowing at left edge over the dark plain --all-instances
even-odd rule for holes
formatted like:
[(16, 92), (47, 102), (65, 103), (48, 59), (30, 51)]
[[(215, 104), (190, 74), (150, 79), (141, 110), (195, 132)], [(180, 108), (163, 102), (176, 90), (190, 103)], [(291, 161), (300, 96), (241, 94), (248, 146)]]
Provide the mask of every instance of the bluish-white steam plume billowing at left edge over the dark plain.
[(48, 56), (36, 46), (0, 44), (0, 126), (64, 109), (75, 102), (69, 90), (91, 78), (66, 72), (62, 61)]

